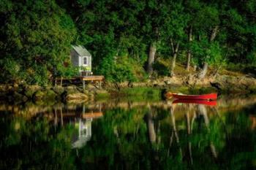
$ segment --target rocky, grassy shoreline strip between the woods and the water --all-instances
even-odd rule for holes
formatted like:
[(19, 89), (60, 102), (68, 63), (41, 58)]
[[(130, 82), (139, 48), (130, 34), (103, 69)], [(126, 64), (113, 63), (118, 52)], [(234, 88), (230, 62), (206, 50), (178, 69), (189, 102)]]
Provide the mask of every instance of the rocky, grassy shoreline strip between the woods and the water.
[[(173, 93), (202, 94), (217, 92), (219, 94), (256, 93), (255, 77), (218, 75), (203, 80), (189, 74), (187, 77), (160, 77), (144, 82), (105, 82), (102, 89), (97, 85), (67, 85), (41, 87), (39, 85), (0, 85), (0, 101), (48, 101), (77, 103), (97, 101), (108, 98), (161, 98), (162, 90)], [(157, 96), (158, 95), (158, 96)]]

